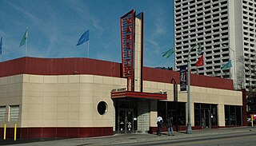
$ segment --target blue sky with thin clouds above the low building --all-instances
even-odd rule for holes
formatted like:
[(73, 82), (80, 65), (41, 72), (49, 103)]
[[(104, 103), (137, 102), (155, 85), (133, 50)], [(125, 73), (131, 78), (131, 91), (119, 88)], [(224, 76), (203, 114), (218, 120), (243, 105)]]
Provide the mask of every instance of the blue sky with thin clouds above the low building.
[(121, 62), (120, 17), (130, 10), (144, 13), (144, 65), (173, 66), (162, 52), (174, 46), (173, 0), (1, 0), (2, 61), (26, 56), (19, 47), (28, 27), (29, 57), (89, 57)]

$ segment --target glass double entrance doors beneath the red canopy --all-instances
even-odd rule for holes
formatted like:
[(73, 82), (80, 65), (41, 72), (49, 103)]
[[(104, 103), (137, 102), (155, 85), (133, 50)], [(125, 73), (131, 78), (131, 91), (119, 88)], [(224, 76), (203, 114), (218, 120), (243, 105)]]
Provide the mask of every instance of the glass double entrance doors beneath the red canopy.
[(133, 109), (119, 109), (118, 131), (120, 133), (134, 132), (134, 111)]

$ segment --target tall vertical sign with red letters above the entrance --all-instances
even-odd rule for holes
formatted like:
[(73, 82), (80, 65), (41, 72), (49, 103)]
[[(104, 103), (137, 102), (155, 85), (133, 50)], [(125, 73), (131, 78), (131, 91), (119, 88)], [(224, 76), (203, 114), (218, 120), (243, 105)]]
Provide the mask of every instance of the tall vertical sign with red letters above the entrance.
[(120, 18), (122, 41), (122, 77), (132, 77), (134, 68), (134, 20), (135, 11), (131, 10)]

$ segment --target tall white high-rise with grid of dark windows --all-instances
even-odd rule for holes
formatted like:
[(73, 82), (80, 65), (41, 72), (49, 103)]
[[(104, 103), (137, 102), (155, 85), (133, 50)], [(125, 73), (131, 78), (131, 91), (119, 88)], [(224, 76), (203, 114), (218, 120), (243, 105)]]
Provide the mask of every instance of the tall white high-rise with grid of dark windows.
[[(234, 80), (234, 88), (256, 85), (256, 1), (175, 0), (175, 69), (187, 64), (194, 45), (203, 48), (204, 65), (195, 66), (201, 54), (190, 52), (192, 73)], [(232, 67), (222, 69), (231, 61)]]

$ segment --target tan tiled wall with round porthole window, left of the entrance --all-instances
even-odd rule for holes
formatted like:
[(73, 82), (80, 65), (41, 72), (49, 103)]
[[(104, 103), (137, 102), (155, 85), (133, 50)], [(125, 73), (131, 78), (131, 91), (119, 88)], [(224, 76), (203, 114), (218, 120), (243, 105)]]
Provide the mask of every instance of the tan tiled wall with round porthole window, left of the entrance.
[[(9, 83), (17, 77), (18, 83)], [(20, 105), (21, 127), (113, 127), (114, 105), (110, 92), (126, 87), (126, 79), (94, 75), (23, 74), (8, 79), (9, 82), (5, 82), (8, 89), (14, 89), (16, 85), (20, 92), (14, 96), (9, 91), (8, 96), (0, 96), (0, 103)], [(4, 90), (2, 88), (0, 92)], [(97, 112), (100, 101), (105, 101), (108, 106), (104, 115)], [(7, 121), (0, 123), (10, 123)]]

